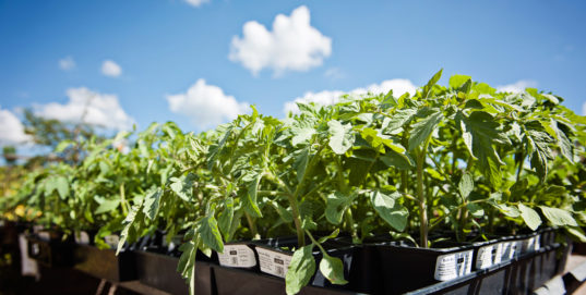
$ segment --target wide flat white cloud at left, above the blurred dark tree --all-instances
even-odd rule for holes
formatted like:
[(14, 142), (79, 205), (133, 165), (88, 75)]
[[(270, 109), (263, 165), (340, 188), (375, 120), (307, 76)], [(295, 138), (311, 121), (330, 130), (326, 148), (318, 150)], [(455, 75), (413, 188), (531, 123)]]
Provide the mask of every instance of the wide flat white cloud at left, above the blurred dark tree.
[(134, 119), (124, 112), (116, 95), (92, 91), (85, 87), (67, 90), (64, 105), (50, 102), (34, 106), (37, 115), (64, 122), (83, 122), (105, 128), (130, 130)]

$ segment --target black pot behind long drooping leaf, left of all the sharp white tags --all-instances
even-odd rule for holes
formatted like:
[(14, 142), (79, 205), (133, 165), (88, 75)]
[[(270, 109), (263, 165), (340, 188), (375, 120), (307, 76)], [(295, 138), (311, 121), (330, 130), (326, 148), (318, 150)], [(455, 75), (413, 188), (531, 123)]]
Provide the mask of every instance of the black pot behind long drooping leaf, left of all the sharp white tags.
[[(136, 274), (143, 284), (168, 292), (170, 294), (188, 294), (189, 286), (177, 271), (178, 257), (151, 253), (135, 251)], [(213, 272), (210, 262), (195, 263), (195, 294), (214, 294)]]

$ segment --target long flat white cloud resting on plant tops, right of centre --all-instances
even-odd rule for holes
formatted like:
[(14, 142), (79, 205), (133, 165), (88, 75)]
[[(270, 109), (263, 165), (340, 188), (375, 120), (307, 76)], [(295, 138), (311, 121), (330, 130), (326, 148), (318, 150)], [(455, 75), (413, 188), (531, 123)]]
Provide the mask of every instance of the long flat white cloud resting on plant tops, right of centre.
[(395, 97), (402, 96), (405, 93), (414, 95), (417, 90), (417, 87), (408, 79), (405, 78), (394, 78), (383, 81), (381, 84), (371, 84), (364, 88), (356, 88), (350, 91), (342, 90), (324, 90), (320, 93), (306, 93), (302, 97), (298, 97), (292, 101), (285, 102), (283, 111), (285, 113), (298, 112), (297, 102), (315, 102), (316, 105), (328, 106), (334, 105), (339, 100), (339, 97), (344, 94), (360, 96), (368, 93), (378, 95), (386, 94), (388, 90), (393, 89), (393, 95)]

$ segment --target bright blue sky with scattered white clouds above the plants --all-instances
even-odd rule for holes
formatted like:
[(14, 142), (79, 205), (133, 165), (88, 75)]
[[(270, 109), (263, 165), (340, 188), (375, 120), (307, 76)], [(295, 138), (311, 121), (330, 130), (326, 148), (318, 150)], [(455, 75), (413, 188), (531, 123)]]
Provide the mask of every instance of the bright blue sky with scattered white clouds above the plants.
[[(439, 69), (584, 113), (586, 2), (0, 0), (0, 145), (22, 108), (107, 130), (203, 131), (250, 105), (414, 91)], [(85, 110), (85, 112), (84, 112)]]

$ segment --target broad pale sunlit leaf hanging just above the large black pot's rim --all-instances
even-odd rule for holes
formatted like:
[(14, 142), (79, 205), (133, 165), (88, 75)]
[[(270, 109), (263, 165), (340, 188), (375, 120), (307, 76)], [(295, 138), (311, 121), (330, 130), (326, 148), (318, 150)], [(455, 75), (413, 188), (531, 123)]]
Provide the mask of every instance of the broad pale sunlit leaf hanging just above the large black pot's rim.
[(370, 201), (379, 216), (393, 226), (393, 229), (403, 232), (407, 225), (409, 211), (396, 201), (399, 197), (400, 194), (398, 192), (394, 192), (391, 195), (383, 194), (379, 190), (370, 193)]

